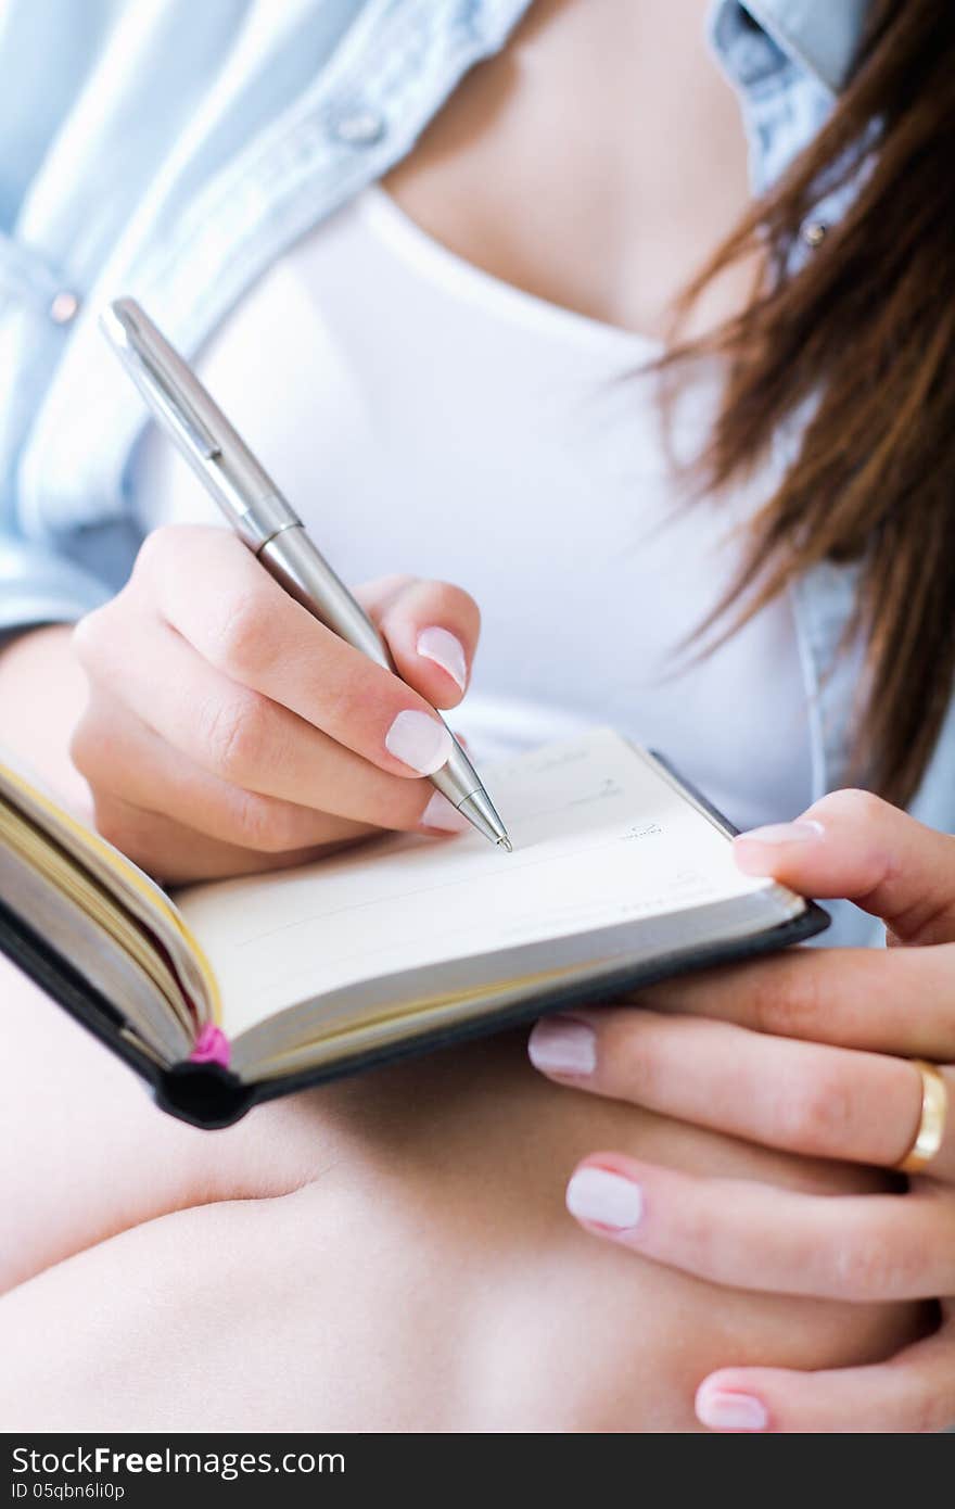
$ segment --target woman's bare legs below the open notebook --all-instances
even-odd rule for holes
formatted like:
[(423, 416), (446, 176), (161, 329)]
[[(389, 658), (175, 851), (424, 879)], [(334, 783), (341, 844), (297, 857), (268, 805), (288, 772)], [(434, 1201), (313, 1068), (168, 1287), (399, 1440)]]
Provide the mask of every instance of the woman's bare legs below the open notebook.
[(514, 1038), (201, 1133), (9, 970), (0, 1002), (8, 1429), (680, 1431), (715, 1366), (866, 1360), (916, 1323), (585, 1237), (563, 1189), (594, 1147), (874, 1180), (557, 1089)]

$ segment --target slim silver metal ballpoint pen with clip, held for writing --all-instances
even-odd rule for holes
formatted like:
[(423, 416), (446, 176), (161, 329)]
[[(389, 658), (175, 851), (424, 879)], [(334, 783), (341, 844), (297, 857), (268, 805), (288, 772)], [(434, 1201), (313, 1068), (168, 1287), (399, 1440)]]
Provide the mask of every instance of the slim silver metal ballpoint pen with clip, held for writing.
[[(371, 619), (312, 545), (294, 509), (235, 433), (192, 368), (134, 299), (116, 299), (100, 324), (149, 409), (205, 483), (240, 540), (303, 608), (345, 643), (397, 675)], [(430, 782), (492, 844), (507, 850), (507, 828), (478, 774), (453, 738)]]

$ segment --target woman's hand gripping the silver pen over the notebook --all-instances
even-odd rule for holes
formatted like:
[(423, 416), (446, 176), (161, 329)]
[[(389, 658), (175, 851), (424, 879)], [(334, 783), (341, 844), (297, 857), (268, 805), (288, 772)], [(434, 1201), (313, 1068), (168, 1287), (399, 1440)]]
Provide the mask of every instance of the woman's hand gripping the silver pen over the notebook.
[(356, 596), (403, 681), (317, 622), (220, 528), (167, 527), (74, 631), (89, 684), (71, 756), (97, 827), (164, 881), (296, 863), (376, 828), (459, 831), (422, 776), (435, 708), (462, 696), (480, 629), (445, 582)]

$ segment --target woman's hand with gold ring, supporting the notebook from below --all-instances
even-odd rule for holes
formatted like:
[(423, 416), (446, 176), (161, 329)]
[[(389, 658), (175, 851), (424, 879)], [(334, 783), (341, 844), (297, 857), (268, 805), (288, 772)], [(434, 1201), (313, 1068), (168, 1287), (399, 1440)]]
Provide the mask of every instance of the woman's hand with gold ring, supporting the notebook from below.
[(896, 1168), (941, 1067), (941, 1147), (905, 1194), (824, 1197), (694, 1179), (593, 1153), (567, 1191), (594, 1236), (738, 1289), (848, 1301), (935, 1299), (932, 1335), (878, 1366), (727, 1367), (697, 1391), (717, 1431), (923, 1432), (955, 1424), (955, 837), (864, 792), (735, 841), (742, 869), (848, 896), (890, 948), (792, 949), (548, 1017), (551, 1079), (775, 1148)]

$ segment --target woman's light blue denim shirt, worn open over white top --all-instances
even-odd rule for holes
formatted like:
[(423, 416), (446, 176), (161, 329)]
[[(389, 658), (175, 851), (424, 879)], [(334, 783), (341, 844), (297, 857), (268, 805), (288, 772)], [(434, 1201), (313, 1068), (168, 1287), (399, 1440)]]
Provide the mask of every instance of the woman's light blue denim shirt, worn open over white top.
[[(145, 410), (98, 308), (134, 294), (193, 355), (291, 241), (404, 157), (528, 3), (0, 6), (0, 631), (77, 619), (122, 585), (139, 546), (125, 475)], [(866, 8), (712, 5), (754, 190), (833, 109)], [(813, 219), (831, 222), (843, 199), (821, 201)], [(797, 436), (780, 433), (783, 459)], [(858, 658), (836, 647), (854, 578), (822, 564), (794, 589), (815, 795), (846, 780)], [(914, 803), (944, 830), (953, 777), (949, 715)], [(866, 942), (872, 928), (843, 908), (836, 936)]]

